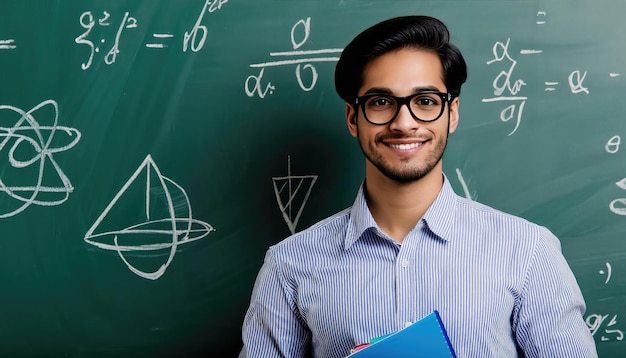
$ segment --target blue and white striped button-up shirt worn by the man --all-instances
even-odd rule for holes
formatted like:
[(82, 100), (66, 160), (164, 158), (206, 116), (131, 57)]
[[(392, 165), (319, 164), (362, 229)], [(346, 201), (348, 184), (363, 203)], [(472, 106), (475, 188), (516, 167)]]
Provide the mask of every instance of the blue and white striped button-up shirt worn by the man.
[(438, 310), (459, 357), (597, 357), (585, 303), (545, 227), (445, 180), (401, 245), (354, 205), (266, 254), (242, 357), (345, 357)]

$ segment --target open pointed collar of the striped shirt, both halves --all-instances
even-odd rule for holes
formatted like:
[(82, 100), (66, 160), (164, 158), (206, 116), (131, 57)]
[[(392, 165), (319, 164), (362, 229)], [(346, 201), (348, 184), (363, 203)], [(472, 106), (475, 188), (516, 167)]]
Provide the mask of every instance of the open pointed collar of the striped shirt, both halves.
[[(448, 178), (444, 175), (443, 179), (444, 182), (441, 191), (428, 210), (426, 210), (422, 220), (424, 220), (428, 229), (435, 235), (442, 240), (449, 241), (452, 238), (451, 233), (454, 227), (458, 203), (456, 200), (457, 195), (452, 189)], [(350, 211), (350, 219), (344, 240), (345, 249), (350, 248), (354, 242), (361, 238), (366, 230), (380, 231), (380, 228), (376, 224), (367, 206), (363, 185), (364, 183), (361, 183)]]

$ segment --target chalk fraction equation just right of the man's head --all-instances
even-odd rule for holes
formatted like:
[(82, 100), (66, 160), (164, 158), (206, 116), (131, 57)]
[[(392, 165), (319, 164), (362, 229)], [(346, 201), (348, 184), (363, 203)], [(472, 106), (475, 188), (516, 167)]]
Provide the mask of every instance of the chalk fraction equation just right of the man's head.
[[(537, 13), (538, 20), (537, 25), (544, 25), (546, 23), (546, 12), (540, 11)], [(518, 61), (510, 55), (509, 47), (511, 44), (511, 38), (507, 38), (506, 41), (497, 41), (492, 48), (493, 58), (487, 61), (487, 65), (499, 64), (503, 69), (496, 75), (493, 80), (493, 97), (483, 98), (482, 102), (494, 103), (502, 102), (505, 107), (500, 112), (500, 120), (502, 122), (513, 121), (513, 129), (508, 134), (513, 135), (520, 127), (522, 122), (522, 116), (524, 112), (524, 106), (528, 100), (528, 96), (522, 95), (523, 87), (527, 85), (527, 82), (522, 78), (517, 78), (514, 71), (518, 64)], [(541, 49), (521, 49), (519, 54), (524, 55), (541, 55), (543, 50)], [(569, 89), (572, 93), (585, 93), (589, 94), (589, 89), (584, 86), (584, 81), (587, 76), (586, 71), (574, 70), (567, 78)], [(546, 92), (553, 92), (557, 90), (559, 81), (545, 81), (544, 90)]]

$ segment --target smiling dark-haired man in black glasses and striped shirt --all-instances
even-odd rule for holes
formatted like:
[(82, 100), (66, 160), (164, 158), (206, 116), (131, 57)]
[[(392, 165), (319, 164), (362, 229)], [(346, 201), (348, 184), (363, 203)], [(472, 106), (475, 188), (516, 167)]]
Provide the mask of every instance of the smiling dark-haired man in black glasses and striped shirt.
[(345, 357), (437, 310), (459, 357), (596, 357), (585, 303), (546, 228), (457, 196), (442, 171), (467, 77), (426, 16), (358, 35), (335, 85), (366, 157), (354, 205), (272, 246), (247, 357)]

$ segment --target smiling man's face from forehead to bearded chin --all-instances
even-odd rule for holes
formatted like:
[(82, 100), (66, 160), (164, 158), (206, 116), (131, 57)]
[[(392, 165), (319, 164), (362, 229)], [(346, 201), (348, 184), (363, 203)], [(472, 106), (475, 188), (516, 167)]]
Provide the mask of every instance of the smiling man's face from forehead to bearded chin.
[[(364, 69), (359, 96), (387, 93), (398, 97), (424, 90), (447, 92), (441, 61), (437, 54), (416, 49), (386, 53)], [(419, 180), (436, 168), (442, 171), (441, 158), (448, 134), (458, 123), (458, 98), (446, 104), (444, 113), (434, 122), (415, 120), (406, 106), (385, 125), (367, 122), (361, 108), (346, 105), (350, 133), (357, 137), (367, 158), (369, 174), (382, 174), (397, 182)], [(448, 106), (450, 106), (448, 108)]]

